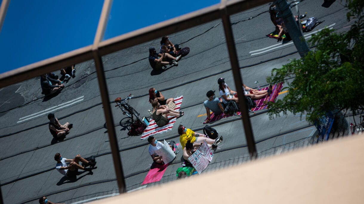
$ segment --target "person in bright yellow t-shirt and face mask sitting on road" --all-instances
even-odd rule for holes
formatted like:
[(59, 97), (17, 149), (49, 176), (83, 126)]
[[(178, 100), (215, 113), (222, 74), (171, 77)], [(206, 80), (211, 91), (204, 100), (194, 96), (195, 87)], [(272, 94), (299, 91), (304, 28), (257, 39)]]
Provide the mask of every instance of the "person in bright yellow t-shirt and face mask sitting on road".
[(218, 136), (216, 139), (207, 138), (206, 135), (194, 132), (189, 128), (186, 128), (183, 125), (178, 126), (178, 134), (179, 136), (179, 143), (181, 143), (182, 148), (185, 148), (187, 141), (190, 141), (191, 143), (194, 142), (202, 142), (206, 141), (207, 145), (211, 148), (216, 148), (217, 143), (222, 141), (222, 136)]

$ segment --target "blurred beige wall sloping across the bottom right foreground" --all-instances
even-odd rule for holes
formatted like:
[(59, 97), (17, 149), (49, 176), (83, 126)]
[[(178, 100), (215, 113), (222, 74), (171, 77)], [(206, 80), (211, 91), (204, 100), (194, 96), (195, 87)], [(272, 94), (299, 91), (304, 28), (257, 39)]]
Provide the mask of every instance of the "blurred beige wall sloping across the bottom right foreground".
[(94, 203), (364, 203), (363, 147), (348, 136)]

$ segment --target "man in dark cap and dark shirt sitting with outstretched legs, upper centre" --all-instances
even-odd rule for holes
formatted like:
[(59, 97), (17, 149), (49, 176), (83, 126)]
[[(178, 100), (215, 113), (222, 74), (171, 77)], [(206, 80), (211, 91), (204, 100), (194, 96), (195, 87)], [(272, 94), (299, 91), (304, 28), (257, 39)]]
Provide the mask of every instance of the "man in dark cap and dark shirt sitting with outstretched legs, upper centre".
[[(155, 70), (162, 69), (165, 65), (177, 65), (177, 61), (181, 59), (181, 55), (177, 57), (173, 57), (168, 53), (158, 53), (154, 47), (149, 48), (149, 64)], [(166, 60), (172, 60), (171, 62), (167, 62)]]

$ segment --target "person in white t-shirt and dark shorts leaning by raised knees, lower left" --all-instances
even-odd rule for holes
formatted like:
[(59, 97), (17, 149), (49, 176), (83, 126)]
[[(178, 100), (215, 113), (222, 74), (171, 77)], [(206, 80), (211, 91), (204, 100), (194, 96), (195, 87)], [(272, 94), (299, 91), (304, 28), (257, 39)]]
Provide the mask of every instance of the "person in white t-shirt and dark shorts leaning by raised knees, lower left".
[[(68, 178), (76, 178), (79, 169), (92, 172), (92, 168), (94, 168), (95, 165), (95, 163), (88, 162), (79, 154), (76, 155), (74, 159), (66, 159), (62, 158), (61, 154), (56, 153), (54, 155), (54, 160), (57, 161), (56, 170)], [(70, 162), (69, 166), (67, 166), (66, 162)], [(82, 167), (79, 165), (79, 162), (84, 164), (90, 163), (91, 167)]]

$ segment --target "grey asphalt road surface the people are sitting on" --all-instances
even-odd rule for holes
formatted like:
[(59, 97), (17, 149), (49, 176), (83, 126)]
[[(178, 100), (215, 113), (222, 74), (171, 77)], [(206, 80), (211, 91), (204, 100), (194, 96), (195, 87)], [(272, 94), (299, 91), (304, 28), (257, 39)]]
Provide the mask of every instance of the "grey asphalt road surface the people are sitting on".
[[(350, 26), (346, 20), (347, 9), (341, 1), (333, 2), (328, 8), (321, 6), (323, 3), (323, 0), (305, 0), (298, 4), (301, 14), (307, 12), (321, 22), (304, 33), (306, 38), (325, 26), (336, 32), (344, 32)], [(266, 12), (268, 8), (266, 4), (231, 16), (242, 79), (249, 87), (256, 88), (255, 81), (266, 86), (266, 77), (273, 68), (300, 57), (292, 41), (282, 43), (266, 37), (274, 30)], [(253, 18), (247, 20), (250, 17)], [(177, 119), (171, 131), (154, 135), (158, 140), (167, 138), (179, 143), (179, 124), (202, 132), (206, 118), (202, 103), (207, 99), (208, 90), (218, 93), (219, 77), (225, 78), (232, 90), (236, 88), (221, 20), (171, 33), (169, 37), (173, 43), (188, 46), (190, 53), (178, 66), (164, 72), (153, 71), (147, 60), (149, 46), (158, 49), (159, 38), (102, 59), (110, 101), (116, 97), (126, 98), (131, 93), (134, 98), (130, 104), (142, 117), (148, 116), (147, 110), (151, 109), (146, 95), (150, 87), (161, 90), (166, 98), (183, 95), (181, 110), (185, 115)], [(284, 94), (282, 92), (278, 98)], [(4, 203), (37, 203), (43, 195), (53, 202), (75, 203), (118, 192), (93, 61), (77, 64), (76, 76), (54, 97), (43, 97), (39, 77), (5, 87), (0, 95), (0, 181)], [(61, 123), (74, 124), (63, 141), (52, 140), (48, 113), (54, 113)], [(120, 123), (129, 119), (119, 109), (113, 108), (113, 117), (128, 191), (177, 178), (175, 171), (181, 167), (182, 151), (167, 167), (161, 181), (141, 185), (152, 163), (147, 141), (140, 136), (127, 135), (128, 129)], [(266, 110), (260, 110), (250, 113), (250, 120), (260, 158), (310, 146), (316, 131), (305, 121), (305, 115), (288, 114), (270, 120)], [(210, 125), (224, 140), (214, 150), (213, 160), (203, 173), (249, 161), (239, 117), (224, 118)], [(97, 168), (93, 174), (83, 172), (76, 181), (65, 180), (54, 170), (53, 157), (57, 152), (64, 158), (74, 158), (77, 154), (96, 155)]]

